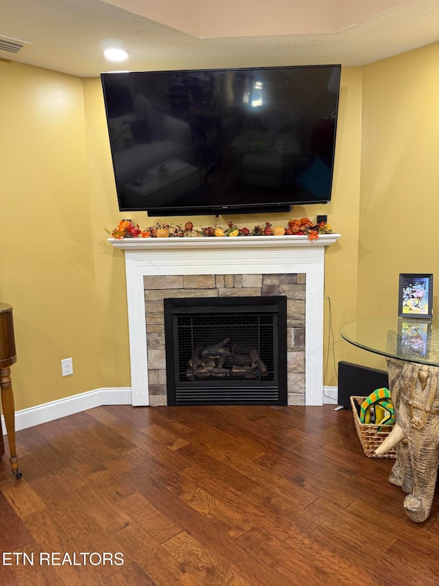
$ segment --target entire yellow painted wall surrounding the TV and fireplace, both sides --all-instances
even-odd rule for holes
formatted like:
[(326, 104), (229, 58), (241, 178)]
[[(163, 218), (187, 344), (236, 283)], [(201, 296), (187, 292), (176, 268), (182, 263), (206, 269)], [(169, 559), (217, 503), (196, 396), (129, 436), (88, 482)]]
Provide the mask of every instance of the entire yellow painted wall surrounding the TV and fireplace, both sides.
[[(438, 51), (342, 70), (331, 204), (233, 216), (251, 228), (327, 214), (342, 234), (326, 255), (326, 385), (339, 360), (381, 368), (340, 339), (342, 324), (394, 313), (400, 272), (434, 272)], [(0, 60), (0, 88), (0, 300), (14, 306), (16, 409), (130, 386), (123, 253), (104, 232), (122, 214), (100, 81)], [(62, 378), (68, 357), (75, 374)]]

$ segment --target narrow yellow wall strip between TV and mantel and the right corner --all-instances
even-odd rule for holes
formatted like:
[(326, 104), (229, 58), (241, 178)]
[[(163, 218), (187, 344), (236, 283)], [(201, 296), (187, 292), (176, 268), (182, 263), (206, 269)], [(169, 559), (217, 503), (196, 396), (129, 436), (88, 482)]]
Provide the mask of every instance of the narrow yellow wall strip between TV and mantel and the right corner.
[(357, 317), (361, 104), (362, 68), (342, 69), (333, 198), (327, 207), (328, 221), (342, 238), (325, 253), (324, 385), (329, 386), (337, 386), (338, 361), (356, 362), (356, 349), (342, 340), (340, 328)]

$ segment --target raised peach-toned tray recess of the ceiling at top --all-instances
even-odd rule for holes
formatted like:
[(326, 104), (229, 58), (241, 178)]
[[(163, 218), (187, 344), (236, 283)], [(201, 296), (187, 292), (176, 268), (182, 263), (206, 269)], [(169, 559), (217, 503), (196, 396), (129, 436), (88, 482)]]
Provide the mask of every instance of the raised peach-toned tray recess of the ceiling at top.
[(202, 37), (333, 33), (408, 0), (104, 0)]

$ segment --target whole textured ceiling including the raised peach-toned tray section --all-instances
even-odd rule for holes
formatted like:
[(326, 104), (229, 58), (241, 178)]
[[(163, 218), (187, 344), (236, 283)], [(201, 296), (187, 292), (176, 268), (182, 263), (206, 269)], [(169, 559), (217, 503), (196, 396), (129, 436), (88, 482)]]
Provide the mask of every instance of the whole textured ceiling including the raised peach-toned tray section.
[[(364, 0), (358, 1), (364, 4)], [(257, 0), (246, 2), (259, 8)], [(295, 10), (300, 5), (311, 5), (316, 12), (317, 0), (265, 2), (263, 10), (254, 8), (246, 21), (230, 19), (231, 10), (227, 11), (227, 18), (225, 13), (221, 18), (221, 11), (215, 12), (218, 6), (242, 8), (244, 0), (150, 0), (152, 8), (148, 14), (155, 20), (120, 8), (130, 3), (131, 10), (137, 5), (141, 7), (137, 12), (145, 12), (148, 2), (141, 0), (115, 0), (117, 6), (102, 0), (0, 0), (0, 35), (31, 43), (18, 54), (0, 49), (0, 58), (86, 78), (112, 69), (365, 65), (439, 40), (439, 0), (412, 0), (399, 5), (391, 0), (370, 0), (366, 3), (368, 10), (363, 7), (358, 13), (351, 10), (354, 0), (320, 2), (326, 8), (330, 4), (335, 11), (338, 7), (340, 14), (336, 12), (330, 25), (325, 25), (319, 12), (320, 18), (316, 17), (313, 27), (316, 32), (297, 32), (305, 29), (298, 28), (297, 19), (289, 18), (291, 5)], [(164, 14), (157, 8), (163, 7), (163, 3), (167, 8)], [(270, 18), (264, 19), (263, 14), (274, 6), (276, 18), (270, 13)], [(180, 8), (179, 14), (171, 10), (176, 7)], [(182, 8), (187, 8), (186, 12)], [(385, 8), (388, 10), (371, 16), (371, 12)], [(188, 14), (198, 14), (198, 20), (189, 19)], [(233, 14), (241, 12), (236, 10)], [(305, 12), (303, 16), (307, 30), (311, 30)], [(189, 34), (184, 31), (193, 27), (191, 21), (197, 27)], [(290, 21), (294, 25), (285, 25)], [(239, 22), (241, 25), (237, 26)], [(215, 36), (203, 38), (203, 34), (213, 30)], [(235, 36), (227, 36), (229, 30)], [(281, 30), (282, 34), (272, 34), (274, 30)], [(130, 60), (123, 66), (108, 65), (102, 51), (109, 46), (126, 49)]]

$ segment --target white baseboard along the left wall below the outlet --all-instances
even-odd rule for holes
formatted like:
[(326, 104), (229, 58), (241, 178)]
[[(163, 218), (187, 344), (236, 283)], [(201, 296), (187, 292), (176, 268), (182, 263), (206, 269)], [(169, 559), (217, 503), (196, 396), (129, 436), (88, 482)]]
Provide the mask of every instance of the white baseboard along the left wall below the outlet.
[[(88, 391), (67, 398), (29, 407), (15, 412), (15, 431), (34, 427), (40, 423), (47, 423), (60, 417), (73, 415), (86, 409), (100, 407), (101, 405), (131, 405), (131, 387), (103, 388)], [(1, 416), (3, 433), (5, 432), (5, 421)]]

